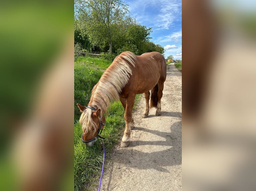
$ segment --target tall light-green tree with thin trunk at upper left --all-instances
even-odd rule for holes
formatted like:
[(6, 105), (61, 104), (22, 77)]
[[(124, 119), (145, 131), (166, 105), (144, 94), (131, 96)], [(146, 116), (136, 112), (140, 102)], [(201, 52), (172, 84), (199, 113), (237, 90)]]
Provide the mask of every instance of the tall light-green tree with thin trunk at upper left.
[(77, 17), (84, 23), (90, 41), (102, 48), (117, 37), (119, 23), (127, 16), (128, 5), (122, 0), (75, 0)]

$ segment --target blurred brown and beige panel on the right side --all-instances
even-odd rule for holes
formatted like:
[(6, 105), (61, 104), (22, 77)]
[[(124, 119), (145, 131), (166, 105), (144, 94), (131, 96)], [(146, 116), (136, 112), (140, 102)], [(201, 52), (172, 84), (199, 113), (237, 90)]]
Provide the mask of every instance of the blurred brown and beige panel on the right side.
[(256, 3), (182, 6), (182, 189), (256, 190)]

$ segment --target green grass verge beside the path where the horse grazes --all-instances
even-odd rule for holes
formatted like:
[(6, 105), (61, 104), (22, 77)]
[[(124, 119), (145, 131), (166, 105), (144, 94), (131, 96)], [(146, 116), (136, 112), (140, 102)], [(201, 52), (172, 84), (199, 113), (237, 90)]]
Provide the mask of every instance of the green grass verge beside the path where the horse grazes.
[[(79, 123), (80, 110), (76, 103), (87, 105), (90, 101), (91, 90), (99, 81), (104, 70), (111, 62), (98, 59), (78, 57), (75, 61), (75, 190), (90, 190), (97, 187), (94, 182), (98, 181), (102, 168), (103, 150), (100, 141), (96, 141), (92, 147), (81, 141), (82, 127)], [(135, 98), (135, 103), (140, 95)], [(104, 145), (106, 151), (105, 163), (108, 161), (108, 153), (112, 151), (114, 144), (118, 142), (125, 127), (124, 109), (120, 101), (113, 102), (111, 109), (106, 115), (106, 126), (102, 131), (105, 137)], [(98, 184), (98, 182), (96, 183)]]

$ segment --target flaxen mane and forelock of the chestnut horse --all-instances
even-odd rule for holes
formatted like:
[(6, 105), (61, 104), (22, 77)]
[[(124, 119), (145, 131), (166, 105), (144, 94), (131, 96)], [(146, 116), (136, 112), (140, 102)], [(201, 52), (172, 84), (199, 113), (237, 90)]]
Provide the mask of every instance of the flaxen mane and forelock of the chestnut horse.
[[(118, 100), (119, 94), (127, 84), (130, 75), (132, 75), (131, 66), (135, 67), (134, 60), (136, 55), (132, 52), (123, 52), (115, 58), (112, 64), (106, 69), (101, 76), (99, 82), (94, 86), (90, 99), (90, 105), (97, 106), (101, 109), (101, 116), (106, 113), (107, 108), (110, 108), (112, 100)], [(96, 129), (96, 124), (93, 122), (92, 110), (86, 109), (80, 117), (80, 122), (87, 123), (85, 127)], [(83, 125), (84, 126), (84, 125)], [(87, 132), (89, 129), (83, 129)]]

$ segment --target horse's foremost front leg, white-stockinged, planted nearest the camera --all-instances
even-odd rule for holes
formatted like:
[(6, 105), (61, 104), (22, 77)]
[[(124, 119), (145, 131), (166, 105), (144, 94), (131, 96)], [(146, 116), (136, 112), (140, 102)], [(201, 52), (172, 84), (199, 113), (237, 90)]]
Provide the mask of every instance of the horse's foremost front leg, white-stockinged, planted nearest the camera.
[(126, 99), (126, 108), (124, 113), (125, 119), (125, 130), (124, 136), (122, 138), (121, 147), (127, 147), (130, 144), (130, 135), (131, 135), (131, 123), (132, 120), (132, 107), (134, 104), (135, 95), (130, 95)]

